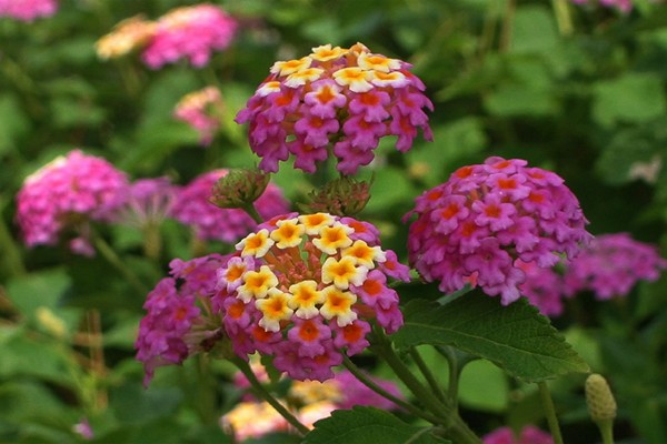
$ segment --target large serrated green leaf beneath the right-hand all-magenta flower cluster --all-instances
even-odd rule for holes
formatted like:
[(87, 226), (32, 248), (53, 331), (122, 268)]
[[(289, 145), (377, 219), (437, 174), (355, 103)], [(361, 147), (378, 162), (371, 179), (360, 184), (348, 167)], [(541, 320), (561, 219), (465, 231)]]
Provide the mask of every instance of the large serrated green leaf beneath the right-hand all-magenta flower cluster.
[(487, 359), (526, 382), (586, 373), (588, 364), (525, 297), (504, 306), (498, 297), (468, 293), (447, 305), (416, 300), (407, 304), (397, 347), (452, 345)]

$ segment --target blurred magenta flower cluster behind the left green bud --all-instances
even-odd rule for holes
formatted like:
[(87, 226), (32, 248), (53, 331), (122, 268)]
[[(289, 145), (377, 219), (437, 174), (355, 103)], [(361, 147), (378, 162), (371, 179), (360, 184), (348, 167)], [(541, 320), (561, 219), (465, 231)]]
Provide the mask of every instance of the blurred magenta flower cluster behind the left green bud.
[[(257, 226), (243, 210), (220, 209), (209, 201), (212, 186), (226, 174), (227, 170), (215, 170), (195, 178), (179, 191), (173, 204), (172, 218), (192, 226), (200, 240), (236, 242)], [(272, 183), (257, 199), (255, 206), (265, 220), (289, 211), (289, 202)]]

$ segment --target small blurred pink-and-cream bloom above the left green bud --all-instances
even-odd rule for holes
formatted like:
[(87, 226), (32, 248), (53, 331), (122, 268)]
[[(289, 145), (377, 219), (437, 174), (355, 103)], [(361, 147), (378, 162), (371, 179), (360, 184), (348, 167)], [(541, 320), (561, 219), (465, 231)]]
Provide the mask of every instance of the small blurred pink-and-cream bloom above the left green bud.
[(173, 110), (173, 117), (188, 123), (199, 133), (199, 143), (208, 147), (220, 128), (222, 95), (216, 87), (207, 87), (183, 97)]

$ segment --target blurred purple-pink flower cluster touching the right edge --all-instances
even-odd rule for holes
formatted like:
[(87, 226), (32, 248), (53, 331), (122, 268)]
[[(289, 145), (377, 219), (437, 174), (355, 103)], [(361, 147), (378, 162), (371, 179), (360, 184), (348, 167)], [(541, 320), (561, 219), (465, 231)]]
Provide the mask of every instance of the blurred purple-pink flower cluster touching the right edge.
[(655, 245), (628, 233), (603, 234), (566, 265), (565, 292), (588, 290), (599, 300), (624, 296), (638, 281), (656, 281), (666, 268)]

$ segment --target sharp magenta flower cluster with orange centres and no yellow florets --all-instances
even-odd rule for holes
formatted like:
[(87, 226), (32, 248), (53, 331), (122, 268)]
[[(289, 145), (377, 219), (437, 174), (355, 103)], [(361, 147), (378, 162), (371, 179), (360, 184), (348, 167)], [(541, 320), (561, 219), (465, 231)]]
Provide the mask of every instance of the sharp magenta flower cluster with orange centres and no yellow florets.
[(417, 198), (412, 214), (409, 259), (426, 281), (438, 281), (445, 293), (479, 285), (504, 304), (520, 296), (520, 263), (552, 266), (590, 239), (564, 180), (518, 159), (458, 169)]

